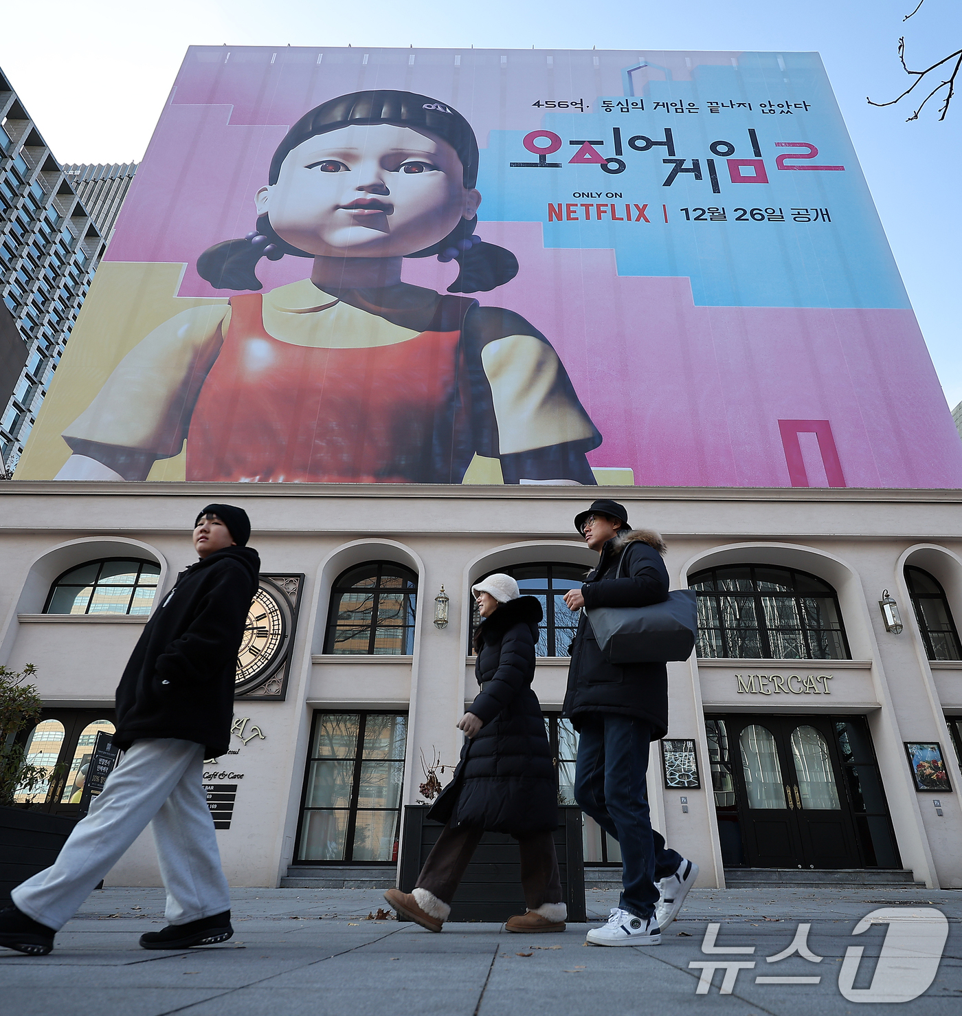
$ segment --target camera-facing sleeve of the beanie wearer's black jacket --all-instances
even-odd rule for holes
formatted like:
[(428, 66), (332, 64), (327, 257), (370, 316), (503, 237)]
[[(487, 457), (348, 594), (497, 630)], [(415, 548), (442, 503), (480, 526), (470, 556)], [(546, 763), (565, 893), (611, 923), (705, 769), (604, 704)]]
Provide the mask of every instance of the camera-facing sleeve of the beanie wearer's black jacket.
[(232, 561), (210, 569), (206, 588), (186, 630), (156, 659), (156, 673), (168, 680), (218, 679), (225, 658), (237, 652), (253, 591), (250, 575)]

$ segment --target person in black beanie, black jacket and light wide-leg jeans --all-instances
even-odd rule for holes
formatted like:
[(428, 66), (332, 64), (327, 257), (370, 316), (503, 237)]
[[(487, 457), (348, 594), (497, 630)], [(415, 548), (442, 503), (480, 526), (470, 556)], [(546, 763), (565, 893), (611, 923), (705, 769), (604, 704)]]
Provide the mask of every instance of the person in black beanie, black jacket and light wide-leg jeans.
[(231, 900), (203, 789), (203, 760), (227, 752), (237, 654), (260, 558), (243, 508), (207, 505), (194, 523), (198, 560), (144, 626), (117, 688), (123, 752), (57, 861), (11, 893), (0, 946), (31, 956), (54, 936), (149, 823), (167, 889), (167, 928), (144, 949), (186, 949), (234, 934)]

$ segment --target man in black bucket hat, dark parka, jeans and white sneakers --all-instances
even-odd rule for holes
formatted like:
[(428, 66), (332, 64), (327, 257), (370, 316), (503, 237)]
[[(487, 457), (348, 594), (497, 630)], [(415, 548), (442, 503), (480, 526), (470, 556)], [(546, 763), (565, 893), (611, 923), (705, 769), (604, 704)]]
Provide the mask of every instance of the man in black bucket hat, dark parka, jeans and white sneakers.
[(661, 929), (675, 919), (698, 876), (694, 862), (665, 847), (648, 810), (648, 750), (668, 727), (667, 670), (664, 663), (607, 662), (583, 608), (648, 607), (667, 599), (665, 546), (654, 529), (632, 529), (625, 506), (608, 499), (578, 512), (575, 528), (599, 557), (584, 585), (565, 594), (568, 608), (581, 616), (562, 715), (579, 733), (575, 799), (618, 840), (623, 862), (619, 904), (587, 941), (658, 945)]

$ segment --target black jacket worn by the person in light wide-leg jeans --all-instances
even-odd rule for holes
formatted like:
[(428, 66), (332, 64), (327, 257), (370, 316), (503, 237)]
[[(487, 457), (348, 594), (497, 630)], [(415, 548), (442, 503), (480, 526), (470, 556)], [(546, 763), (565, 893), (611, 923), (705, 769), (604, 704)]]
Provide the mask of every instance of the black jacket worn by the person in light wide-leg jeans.
[(230, 746), (234, 680), (260, 558), (250, 547), (215, 551), (177, 576), (145, 625), (117, 687), (113, 742), (141, 738)]

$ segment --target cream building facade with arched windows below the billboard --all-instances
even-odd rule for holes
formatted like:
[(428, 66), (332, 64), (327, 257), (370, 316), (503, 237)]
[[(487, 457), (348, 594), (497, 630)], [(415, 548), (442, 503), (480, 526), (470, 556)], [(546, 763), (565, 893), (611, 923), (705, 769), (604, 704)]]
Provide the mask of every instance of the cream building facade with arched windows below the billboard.
[[(292, 868), (393, 877), (401, 810), (425, 800), (432, 769), (446, 781), (460, 752), (455, 723), (475, 693), (469, 589), (496, 570), (546, 607), (534, 689), (570, 801), (576, 734), (560, 709), (574, 619), (562, 593), (593, 562), (572, 519), (594, 494), (3, 485), (0, 662), (38, 668), (47, 712), (28, 753), (66, 770), (46, 807), (76, 811), (126, 657), (192, 560), (190, 526), (209, 501), (246, 508), (262, 562), (232, 749), (205, 770), (232, 884), (276, 886)], [(649, 795), (700, 884), (854, 869), (962, 887), (962, 494), (597, 495), (659, 529), (672, 587), (698, 592), (698, 647), (668, 664)], [(617, 844), (590, 823), (584, 845), (587, 864), (617, 870)], [(148, 835), (108, 884), (159, 884)]]

